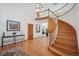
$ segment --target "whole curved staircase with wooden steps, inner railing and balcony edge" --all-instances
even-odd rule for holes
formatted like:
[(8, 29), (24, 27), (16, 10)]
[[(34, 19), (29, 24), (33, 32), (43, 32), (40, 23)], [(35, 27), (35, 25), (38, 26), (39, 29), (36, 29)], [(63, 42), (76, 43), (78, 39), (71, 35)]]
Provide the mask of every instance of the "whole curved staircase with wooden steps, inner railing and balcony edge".
[(50, 9), (44, 10), (42, 13), (46, 11), (48, 12), (47, 16), (40, 16), (35, 19), (48, 19), (48, 49), (58, 56), (77, 55), (78, 43), (74, 27), (59, 19), (58, 16)]

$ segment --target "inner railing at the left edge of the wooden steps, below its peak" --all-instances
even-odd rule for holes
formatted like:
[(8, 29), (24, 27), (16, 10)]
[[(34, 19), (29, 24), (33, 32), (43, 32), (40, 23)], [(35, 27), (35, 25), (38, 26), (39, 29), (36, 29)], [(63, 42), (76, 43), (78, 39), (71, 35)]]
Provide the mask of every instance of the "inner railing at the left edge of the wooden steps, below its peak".
[(49, 46), (52, 46), (58, 35), (58, 17), (50, 9), (48, 9), (48, 16), (52, 18), (50, 20), (54, 21), (55, 22), (54, 25), (56, 25), (53, 32), (49, 32)]

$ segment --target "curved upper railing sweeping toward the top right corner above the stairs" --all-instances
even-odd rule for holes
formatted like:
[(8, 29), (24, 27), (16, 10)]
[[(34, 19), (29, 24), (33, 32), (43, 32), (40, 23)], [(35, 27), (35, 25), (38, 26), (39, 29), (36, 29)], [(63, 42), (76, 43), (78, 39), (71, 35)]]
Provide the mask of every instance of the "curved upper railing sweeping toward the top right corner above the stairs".
[[(62, 6), (60, 9), (57, 9), (55, 11), (53, 11), (54, 13), (56, 13), (56, 15), (58, 17), (64, 16), (67, 13), (69, 13), (70, 11), (72, 11), (74, 9), (74, 7), (76, 6), (76, 3), (67, 3), (64, 6)], [(69, 8), (68, 8), (69, 7)]]

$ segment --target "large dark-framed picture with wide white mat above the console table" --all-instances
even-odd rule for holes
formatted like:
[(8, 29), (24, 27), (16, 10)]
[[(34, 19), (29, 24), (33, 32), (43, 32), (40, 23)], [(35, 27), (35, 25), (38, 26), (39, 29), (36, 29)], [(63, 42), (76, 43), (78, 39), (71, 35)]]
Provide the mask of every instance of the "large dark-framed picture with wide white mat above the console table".
[(7, 20), (7, 31), (20, 31), (20, 22)]

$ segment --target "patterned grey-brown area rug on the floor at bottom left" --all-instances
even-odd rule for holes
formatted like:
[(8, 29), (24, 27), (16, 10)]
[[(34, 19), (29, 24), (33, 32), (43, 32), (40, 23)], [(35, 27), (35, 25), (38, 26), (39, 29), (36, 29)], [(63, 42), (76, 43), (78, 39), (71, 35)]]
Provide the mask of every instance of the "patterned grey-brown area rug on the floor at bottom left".
[(22, 48), (12, 48), (0, 53), (0, 56), (29, 56)]

